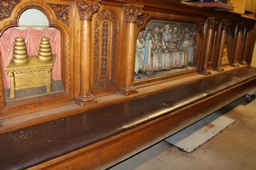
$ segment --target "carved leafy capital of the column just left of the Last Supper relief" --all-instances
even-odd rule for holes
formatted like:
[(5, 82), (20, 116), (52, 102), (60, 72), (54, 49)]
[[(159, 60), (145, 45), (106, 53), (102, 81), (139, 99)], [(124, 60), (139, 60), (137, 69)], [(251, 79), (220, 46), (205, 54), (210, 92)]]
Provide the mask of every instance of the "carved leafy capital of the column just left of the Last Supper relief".
[(127, 23), (137, 23), (137, 17), (143, 14), (141, 6), (125, 6)]

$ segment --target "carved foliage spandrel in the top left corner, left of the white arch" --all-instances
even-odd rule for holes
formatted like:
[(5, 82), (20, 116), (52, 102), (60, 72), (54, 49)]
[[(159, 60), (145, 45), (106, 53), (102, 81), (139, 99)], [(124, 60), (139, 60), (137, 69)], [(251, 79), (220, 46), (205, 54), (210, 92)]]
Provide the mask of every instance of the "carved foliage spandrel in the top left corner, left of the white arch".
[(10, 16), (20, 0), (0, 0), (0, 21)]

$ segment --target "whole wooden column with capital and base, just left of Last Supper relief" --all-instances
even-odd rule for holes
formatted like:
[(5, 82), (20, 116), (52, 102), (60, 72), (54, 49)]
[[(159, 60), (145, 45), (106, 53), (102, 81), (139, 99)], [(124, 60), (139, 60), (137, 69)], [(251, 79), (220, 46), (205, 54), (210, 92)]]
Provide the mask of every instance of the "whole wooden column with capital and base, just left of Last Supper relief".
[(143, 12), (143, 6), (127, 4), (126, 12), (126, 44), (125, 44), (125, 79), (119, 93), (129, 95), (136, 94), (137, 91), (132, 85), (134, 77), (134, 63), (136, 54), (136, 23), (137, 17)]

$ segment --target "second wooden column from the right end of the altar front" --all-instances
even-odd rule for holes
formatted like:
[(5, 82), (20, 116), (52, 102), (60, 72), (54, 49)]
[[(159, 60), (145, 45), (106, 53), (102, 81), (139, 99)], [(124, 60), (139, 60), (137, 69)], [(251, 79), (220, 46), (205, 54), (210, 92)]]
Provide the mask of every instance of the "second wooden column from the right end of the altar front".
[(241, 41), (242, 41), (242, 35), (244, 31), (244, 25), (243, 24), (238, 24), (236, 26), (236, 39), (235, 39), (235, 51), (234, 51), (234, 56), (231, 60), (231, 66), (233, 67), (239, 67), (239, 57), (241, 55)]

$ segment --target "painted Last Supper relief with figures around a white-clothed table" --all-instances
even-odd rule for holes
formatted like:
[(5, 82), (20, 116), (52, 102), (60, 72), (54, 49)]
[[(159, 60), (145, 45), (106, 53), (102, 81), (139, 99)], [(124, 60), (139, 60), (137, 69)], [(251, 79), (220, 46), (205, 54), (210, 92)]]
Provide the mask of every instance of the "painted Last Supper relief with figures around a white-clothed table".
[(135, 78), (195, 69), (195, 24), (149, 20), (137, 36)]

